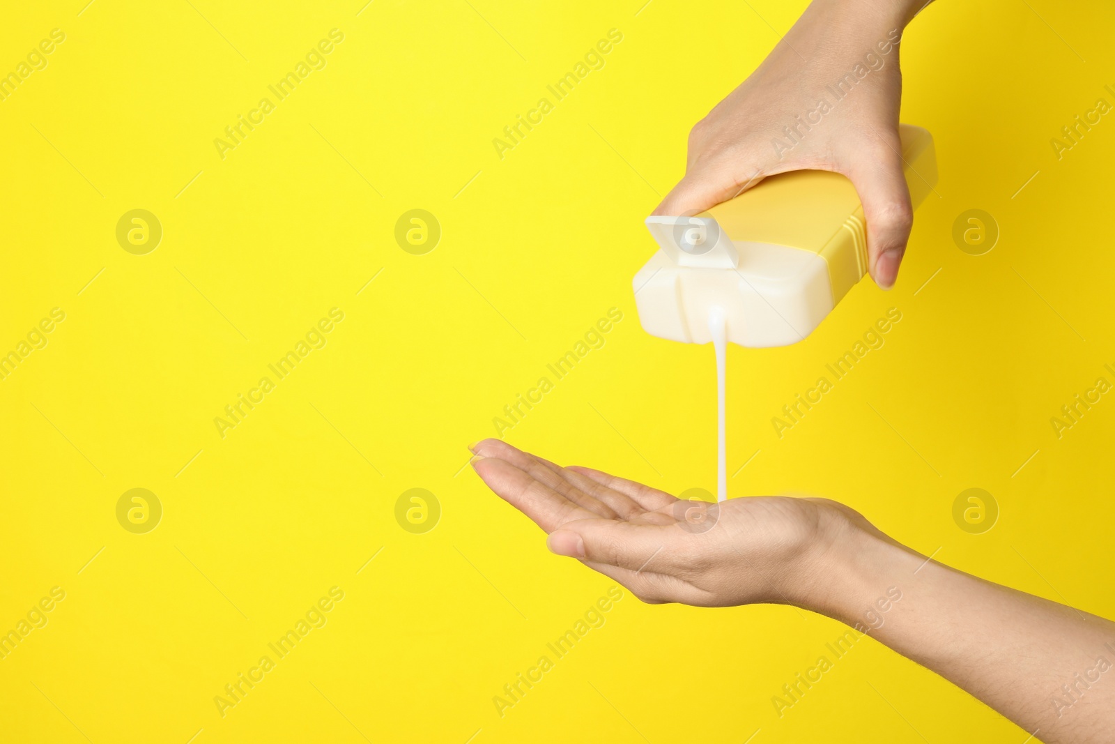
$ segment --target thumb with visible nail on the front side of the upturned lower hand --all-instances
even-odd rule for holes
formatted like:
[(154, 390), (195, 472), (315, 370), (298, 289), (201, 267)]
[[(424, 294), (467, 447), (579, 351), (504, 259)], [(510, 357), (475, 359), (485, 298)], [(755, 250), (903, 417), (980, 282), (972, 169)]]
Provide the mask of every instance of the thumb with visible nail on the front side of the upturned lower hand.
[(677, 540), (677, 525), (633, 525), (614, 520), (589, 519), (565, 522), (546, 538), (551, 552), (595, 563), (640, 571), (653, 562), (658, 572), (672, 568), (668, 544)]

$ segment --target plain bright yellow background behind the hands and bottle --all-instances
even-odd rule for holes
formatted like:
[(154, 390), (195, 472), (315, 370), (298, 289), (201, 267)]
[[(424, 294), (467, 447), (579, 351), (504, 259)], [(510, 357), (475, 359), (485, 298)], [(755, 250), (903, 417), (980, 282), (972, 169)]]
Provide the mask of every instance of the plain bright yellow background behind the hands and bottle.
[[(689, 127), (804, 3), (191, 2), (19, 3), (0, 27), (3, 71), (66, 33), (0, 103), (2, 351), (66, 312), (0, 381), (0, 630), (66, 591), (0, 660), (0, 738), (1026, 737), (870, 638), (779, 718), (772, 696), (842, 626), (630, 596), (503, 717), (493, 705), (611, 582), (550, 555), (465, 447), (617, 307), (604, 347), (507, 441), (714, 489), (712, 350), (643, 334), (630, 281)], [(902, 118), (935, 137), (937, 194), (893, 291), (863, 282), (806, 341), (730, 350), (729, 474), (758, 452), (733, 495), (838, 499), (946, 563), (1115, 615), (1115, 402), (1059, 439), (1049, 423), (1115, 381), (1115, 122), (1060, 161), (1049, 144), (1115, 103), (1113, 16), (942, 0), (914, 21)], [(213, 139), (332, 28), (328, 66), (222, 160)], [(612, 28), (605, 67), (501, 160), (493, 137)], [(116, 242), (133, 209), (163, 225), (146, 255)], [(442, 225), (425, 255), (394, 239), (411, 209)], [(986, 255), (953, 244), (968, 209), (1000, 226)], [(213, 418), (333, 307), (328, 345), (222, 439)], [(890, 307), (885, 346), (779, 439), (772, 416)], [(981, 535), (951, 516), (973, 486), (1001, 509)], [(147, 534), (116, 521), (133, 487), (164, 508)], [(395, 520), (411, 487), (442, 505), (425, 534)], [(333, 586), (328, 624), (222, 718), (214, 696)]]

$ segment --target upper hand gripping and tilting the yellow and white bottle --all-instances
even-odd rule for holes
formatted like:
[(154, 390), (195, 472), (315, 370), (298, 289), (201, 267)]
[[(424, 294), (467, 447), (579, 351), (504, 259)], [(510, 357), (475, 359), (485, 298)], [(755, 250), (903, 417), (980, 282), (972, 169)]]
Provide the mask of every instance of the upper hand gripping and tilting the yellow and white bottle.
[(860, 194), (871, 276), (889, 289), (913, 224), (898, 129), (898, 41), (923, 4), (816, 0), (692, 128), (686, 175), (655, 214), (697, 214), (776, 173), (835, 171)]

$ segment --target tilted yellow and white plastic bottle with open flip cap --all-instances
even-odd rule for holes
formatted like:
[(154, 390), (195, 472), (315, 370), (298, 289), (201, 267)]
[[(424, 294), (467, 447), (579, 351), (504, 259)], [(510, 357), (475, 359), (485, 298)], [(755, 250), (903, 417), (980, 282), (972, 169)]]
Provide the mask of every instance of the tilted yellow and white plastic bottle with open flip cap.
[[(917, 206), (937, 183), (933, 138), (904, 124), (900, 134)], [(867, 273), (863, 206), (838, 173), (769, 176), (708, 212), (647, 226), (660, 250), (634, 277), (636, 307), (648, 334), (675, 341), (712, 340), (719, 307), (733, 344), (795, 344)]]

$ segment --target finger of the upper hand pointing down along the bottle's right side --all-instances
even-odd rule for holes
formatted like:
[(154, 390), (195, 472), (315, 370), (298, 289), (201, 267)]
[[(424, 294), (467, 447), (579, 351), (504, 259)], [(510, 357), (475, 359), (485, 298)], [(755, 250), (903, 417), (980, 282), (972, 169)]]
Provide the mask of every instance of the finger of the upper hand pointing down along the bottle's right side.
[(902, 172), (898, 133), (876, 133), (878, 144), (857, 151), (849, 177), (860, 194), (867, 223), (867, 264), (875, 283), (894, 284), (913, 226), (910, 187)]

